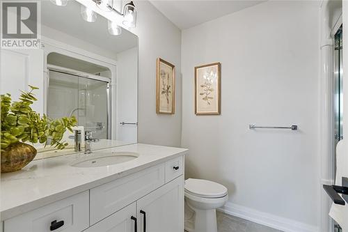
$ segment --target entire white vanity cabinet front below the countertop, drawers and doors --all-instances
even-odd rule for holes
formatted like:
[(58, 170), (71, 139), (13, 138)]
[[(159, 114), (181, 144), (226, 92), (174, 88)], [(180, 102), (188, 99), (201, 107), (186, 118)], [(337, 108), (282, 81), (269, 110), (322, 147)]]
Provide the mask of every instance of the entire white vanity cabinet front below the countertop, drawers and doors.
[(3, 232), (182, 232), (183, 156), (6, 219)]

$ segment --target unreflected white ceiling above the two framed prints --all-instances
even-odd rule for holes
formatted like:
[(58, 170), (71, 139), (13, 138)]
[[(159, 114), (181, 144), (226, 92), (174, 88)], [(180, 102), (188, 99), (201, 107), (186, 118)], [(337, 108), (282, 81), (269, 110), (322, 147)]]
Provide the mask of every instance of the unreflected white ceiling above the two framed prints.
[(264, 1), (253, 0), (150, 0), (180, 29), (188, 29)]

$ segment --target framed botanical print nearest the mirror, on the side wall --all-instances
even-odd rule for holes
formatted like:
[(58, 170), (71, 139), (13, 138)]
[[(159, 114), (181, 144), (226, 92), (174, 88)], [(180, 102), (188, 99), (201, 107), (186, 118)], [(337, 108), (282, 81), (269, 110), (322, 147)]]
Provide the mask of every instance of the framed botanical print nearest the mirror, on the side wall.
[(175, 113), (175, 65), (161, 58), (156, 64), (156, 113)]

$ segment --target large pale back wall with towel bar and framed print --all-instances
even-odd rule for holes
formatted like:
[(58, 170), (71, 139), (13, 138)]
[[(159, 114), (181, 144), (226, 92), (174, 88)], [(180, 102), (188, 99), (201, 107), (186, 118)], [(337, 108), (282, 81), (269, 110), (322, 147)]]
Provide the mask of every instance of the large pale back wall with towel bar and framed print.
[[(182, 31), (187, 177), (226, 185), (226, 210), (287, 231), (319, 226), (318, 29), (319, 1), (267, 1)], [(221, 116), (195, 116), (193, 68), (217, 61)]]

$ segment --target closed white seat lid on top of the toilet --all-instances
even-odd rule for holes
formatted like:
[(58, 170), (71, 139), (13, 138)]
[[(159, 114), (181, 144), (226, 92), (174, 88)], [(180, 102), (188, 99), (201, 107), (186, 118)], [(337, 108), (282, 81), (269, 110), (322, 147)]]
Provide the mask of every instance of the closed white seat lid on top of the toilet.
[(185, 191), (205, 198), (219, 198), (227, 195), (227, 188), (219, 183), (191, 178), (185, 180)]

